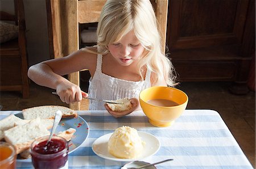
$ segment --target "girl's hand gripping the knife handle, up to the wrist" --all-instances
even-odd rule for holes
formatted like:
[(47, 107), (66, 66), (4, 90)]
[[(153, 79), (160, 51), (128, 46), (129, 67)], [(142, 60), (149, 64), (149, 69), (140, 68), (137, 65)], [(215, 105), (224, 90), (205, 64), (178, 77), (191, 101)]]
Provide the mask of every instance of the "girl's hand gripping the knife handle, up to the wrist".
[(83, 97), (88, 97), (86, 92), (81, 91), (79, 86), (71, 82), (59, 84), (56, 87), (56, 92), (59, 95), (60, 100), (67, 104), (80, 102)]

